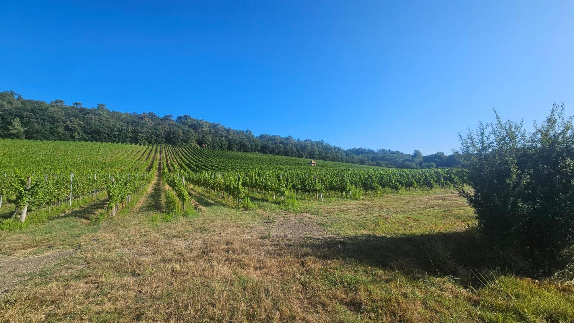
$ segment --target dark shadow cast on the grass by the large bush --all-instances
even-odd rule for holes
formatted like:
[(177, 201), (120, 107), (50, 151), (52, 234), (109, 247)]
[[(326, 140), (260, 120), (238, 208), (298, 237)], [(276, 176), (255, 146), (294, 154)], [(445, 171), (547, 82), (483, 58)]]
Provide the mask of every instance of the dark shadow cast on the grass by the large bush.
[(481, 243), (474, 230), (402, 237), (359, 235), (315, 239), (293, 245), (296, 253), (319, 259), (342, 259), (398, 270), (414, 279), (447, 275), (468, 286), (482, 285), (492, 271), (534, 277), (528, 259)]

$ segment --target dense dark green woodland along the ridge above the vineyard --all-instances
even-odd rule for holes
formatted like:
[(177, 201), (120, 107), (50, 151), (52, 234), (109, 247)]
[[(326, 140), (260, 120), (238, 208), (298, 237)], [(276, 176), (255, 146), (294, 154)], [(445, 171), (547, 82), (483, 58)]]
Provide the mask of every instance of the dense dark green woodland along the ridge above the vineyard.
[(195, 119), (189, 115), (158, 116), (153, 112), (122, 113), (105, 104), (95, 108), (63, 100), (51, 103), (24, 99), (13, 91), (0, 92), (0, 137), (12, 139), (101, 141), (111, 143), (192, 145), (230, 151), (261, 152), (320, 160), (399, 168), (459, 166), (457, 155), (437, 152), (423, 156), (390, 149), (343, 149), (323, 140), (300, 140), (292, 136), (255, 136)]

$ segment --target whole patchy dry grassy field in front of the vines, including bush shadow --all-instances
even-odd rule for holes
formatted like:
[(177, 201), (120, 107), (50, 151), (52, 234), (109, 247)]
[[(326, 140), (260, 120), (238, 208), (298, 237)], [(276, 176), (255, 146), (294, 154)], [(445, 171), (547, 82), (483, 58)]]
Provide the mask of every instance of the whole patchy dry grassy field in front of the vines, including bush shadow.
[(197, 195), (172, 218), (160, 183), (102, 223), (90, 205), (0, 232), (0, 321), (574, 320), (574, 287), (481, 249), (449, 190), (249, 211)]

